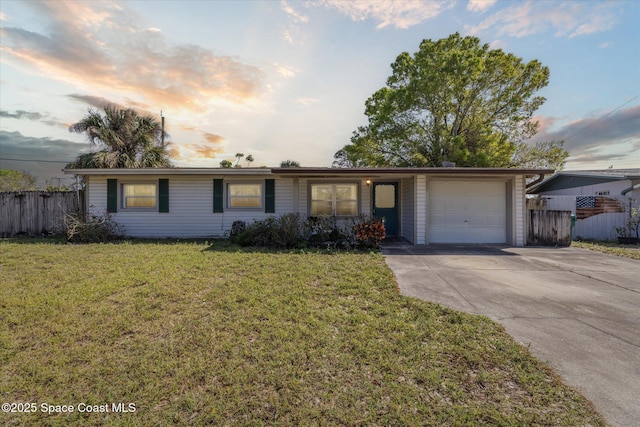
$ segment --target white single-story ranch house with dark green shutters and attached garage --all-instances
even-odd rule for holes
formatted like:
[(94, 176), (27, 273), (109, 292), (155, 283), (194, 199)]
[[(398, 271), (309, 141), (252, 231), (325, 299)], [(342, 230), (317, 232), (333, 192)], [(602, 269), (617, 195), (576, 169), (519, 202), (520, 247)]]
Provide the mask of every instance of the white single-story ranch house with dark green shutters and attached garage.
[(236, 220), (270, 215), (384, 217), (413, 244), (523, 246), (527, 178), (547, 169), (67, 169), (83, 176), (91, 213), (134, 237), (223, 237)]

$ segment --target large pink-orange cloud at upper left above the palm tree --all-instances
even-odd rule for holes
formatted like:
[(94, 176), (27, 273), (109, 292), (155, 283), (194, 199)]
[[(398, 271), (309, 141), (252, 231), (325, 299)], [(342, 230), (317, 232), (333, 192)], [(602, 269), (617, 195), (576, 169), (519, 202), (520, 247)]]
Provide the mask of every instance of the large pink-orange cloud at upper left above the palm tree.
[(259, 68), (200, 46), (172, 45), (160, 31), (136, 28), (131, 12), (112, 3), (28, 4), (46, 20), (46, 31), (3, 26), (0, 49), (6, 60), (47, 76), (190, 111), (243, 103), (264, 90)]

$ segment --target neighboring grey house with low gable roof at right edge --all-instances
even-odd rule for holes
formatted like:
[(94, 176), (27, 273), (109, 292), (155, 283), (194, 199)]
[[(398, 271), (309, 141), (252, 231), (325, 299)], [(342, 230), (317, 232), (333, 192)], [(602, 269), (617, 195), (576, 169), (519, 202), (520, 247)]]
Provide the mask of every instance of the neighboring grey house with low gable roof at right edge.
[(531, 187), (541, 196), (627, 196), (640, 199), (640, 169), (560, 171)]

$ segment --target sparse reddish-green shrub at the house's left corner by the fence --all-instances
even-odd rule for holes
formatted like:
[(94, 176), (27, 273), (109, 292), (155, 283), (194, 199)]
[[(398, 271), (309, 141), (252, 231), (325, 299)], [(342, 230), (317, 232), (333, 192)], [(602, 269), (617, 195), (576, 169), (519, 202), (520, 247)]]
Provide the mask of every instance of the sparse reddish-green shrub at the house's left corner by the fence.
[(67, 241), (72, 243), (100, 243), (119, 240), (124, 237), (124, 226), (116, 223), (109, 213), (91, 214), (83, 218), (78, 214), (64, 214)]

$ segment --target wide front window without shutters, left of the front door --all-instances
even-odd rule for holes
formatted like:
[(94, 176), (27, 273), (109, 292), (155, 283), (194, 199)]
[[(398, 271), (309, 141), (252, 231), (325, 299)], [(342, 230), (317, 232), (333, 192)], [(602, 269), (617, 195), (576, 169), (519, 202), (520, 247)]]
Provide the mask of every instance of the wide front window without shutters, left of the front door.
[(358, 214), (357, 184), (312, 184), (311, 215)]

